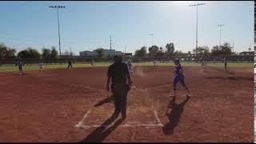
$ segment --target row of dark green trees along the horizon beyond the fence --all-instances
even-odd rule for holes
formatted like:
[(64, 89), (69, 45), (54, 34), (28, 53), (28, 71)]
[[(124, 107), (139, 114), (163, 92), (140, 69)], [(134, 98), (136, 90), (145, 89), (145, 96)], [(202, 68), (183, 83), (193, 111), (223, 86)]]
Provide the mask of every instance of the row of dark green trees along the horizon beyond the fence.
[[(147, 52), (148, 50), (148, 52)], [(248, 49), (251, 50), (250, 48)], [(98, 58), (110, 58), (110, 55), (104, 54), (103, 48), (98, 48), (95, 50)], [(43, 47), (42, 53), (40, 54), (37, 49), (28, 47), (26, 50), (21, 50), (17, 53), (17, 50), (6, 46), (4, 43), (0, 43), (0, 58), (42, 58), (42, 59), (54, 59), (58, 58), (58, 51), (55, 46), (50, 48)], [(181, 50), (174, 49), (174, 43), (167, 43), (165, 47), (162, 46), (142, 46), (139, 50), (135, 50), (135, 57), (168, 57), (168, 56), (191, 56), (196, 54), (200, 57), (207, 56), (229, 56), (238, 55), (232, 52), (232, 47), (230, 43), (224, 42), (222, 46), (213, 46), (210, 50), (209, 46), (198, 46), (197, 49), (188, 51), (187, 53)], [(62, 56), (74, 56), (75, 54), (70, 50), (62, 53)]]

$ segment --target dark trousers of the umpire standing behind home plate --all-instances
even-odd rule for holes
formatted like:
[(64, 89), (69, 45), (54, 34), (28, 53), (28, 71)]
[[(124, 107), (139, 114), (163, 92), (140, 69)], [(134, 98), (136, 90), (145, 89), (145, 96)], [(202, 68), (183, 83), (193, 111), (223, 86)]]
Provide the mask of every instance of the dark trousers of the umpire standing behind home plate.
[(117, 83), (112, 85), (112, 91), (114, 94), (114, 113), (122, 116), (126, 116), (127, 105), (127, 86), (125, 83)]

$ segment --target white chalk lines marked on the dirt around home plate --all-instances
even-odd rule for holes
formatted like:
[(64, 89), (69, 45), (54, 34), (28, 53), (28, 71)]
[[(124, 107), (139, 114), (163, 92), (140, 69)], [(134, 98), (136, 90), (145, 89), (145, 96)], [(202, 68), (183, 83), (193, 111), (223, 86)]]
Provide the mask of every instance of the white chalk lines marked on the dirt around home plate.
[[(82, 86), (82, 85), (71, 85), (71, 86), (78, 86), (78, 87), (82, 87), (82, 88), (86, 88), (86, 89), (91, 89), (89, 86)], [(86, 126), (86, 125), (82, 125), (82, 123), (85, 121), (85, 119), (87, 118), (87, 116), (90, 114), (91, 110), (93, 109), (93, 107), (90, 108), (90, 110), (88, 110), (86, 112), (86, 114), (84, 115), (84, 117), (82, 118), (82, 121), (78, 122), (77, 125), (75, 125), (75, 127), (79, 127), (79, 128), (85, 128), (85, 129), (88, 129), (88, 128), (91, 128), (91, 127), (99, 127), (99, 126), (102, 126), (102, 125), (92, 125), (92, 126)], [(157, 120), (157, 124), (135, 124), (135, 125), (130, 125), (130, 124), (125, 124), (125, 125), (121, 125), (120, 127), (137, 127), (137, 126), (144, 126), (146, 128), (150, 128), (150, 127), (158, 127), (158, 126), (163, 126), (162, 125), (162, 122), (160, 122), (160, 119), (158, 118), (158, 113), (157, 111), (154, 109), (154, 106), (152, 105), (151, 106), (151, 109), (154, 111), (154, 117), (156, 118)], [(111, 126), (111, 125), (108, 125), (108, 126)], [(106, 127), (106, 126), (105, 126)]]

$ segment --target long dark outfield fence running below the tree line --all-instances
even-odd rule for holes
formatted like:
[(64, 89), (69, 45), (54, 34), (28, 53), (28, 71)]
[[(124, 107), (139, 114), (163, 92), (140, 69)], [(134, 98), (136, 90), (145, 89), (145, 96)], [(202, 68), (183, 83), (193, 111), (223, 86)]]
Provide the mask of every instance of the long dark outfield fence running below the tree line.
[[(229, 62), (254, 62), (254, 56), (229, 56), (229, 57), (132, 57), (124, 58), (124, 60), (131, 59), (132, 62), (173, 62), (174, 58), (179, 58), (181, 62), (223, 62), (224, 58), (227, 58)], [(69, 60), (73, 63), (90, 63), (93, 62), (113, 62), (113, 58), (54, 58), (54, 59), (42, 59), (42, 58), (22, 58), (24, 64), (37, 64), (38, 62), (44, 62), (49, 64), (63, 64)], [(0, 65), (15, 65), (18, 62), (18, 58), (1, 58)]]

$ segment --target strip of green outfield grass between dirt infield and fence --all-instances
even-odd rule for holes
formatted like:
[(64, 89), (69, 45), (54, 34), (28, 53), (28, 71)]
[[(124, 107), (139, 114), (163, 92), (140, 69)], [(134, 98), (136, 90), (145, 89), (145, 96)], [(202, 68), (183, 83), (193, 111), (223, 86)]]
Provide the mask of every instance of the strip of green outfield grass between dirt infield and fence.
[[(101, 67), (101, 66), (110, 66), (110, 62), (95, 62), (94, 66)], [(134, 63), (135, 66), (154, 66), (153, 62), (140, 62), (140, 63)], [(52, 69), (65, 69), (67, 68), (67, 64), (45, 64), (44, 70), (52, 70)], [(89, 63), (74, 63), (72, 64), (73, 67), (91, 67)], [(173, 62), (164, 62), (164, 63), (157, 63), (157, 66), (174, 66)], [(200, 63), (195, 62), (182, 62), (182, 66), (201, 66)], [(214, 67), (224, 67), (223, 63), (208, 63), (207, 66), (214, 66)], [(228, 67), (237, 67), (237, 68), (254, 68), (254, 63), (228, 63)], [(38, 65), (26, 65), (23, 66), (23, 70), (38, 70)], [(6, 65), (6, 66), (0, 66), (0, 72), (14, 72), (18, 71), (18, 66), (14, 65)]]

